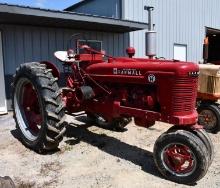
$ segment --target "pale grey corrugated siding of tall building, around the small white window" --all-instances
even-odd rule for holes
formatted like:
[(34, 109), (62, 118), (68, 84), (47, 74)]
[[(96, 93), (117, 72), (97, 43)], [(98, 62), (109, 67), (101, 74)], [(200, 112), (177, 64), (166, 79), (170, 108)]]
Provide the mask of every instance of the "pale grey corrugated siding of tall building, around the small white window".
[[(158, 32), (157, 54), (173, 58), (174, 43), (187, 44), (189, 61), (202, 60), (205, 26), (220, 29), (219, 0), (122, 0), (123, 18), (147, 22), (144, 5), (154, 6), (153, 20)], [(131, 33), (131, 45), (144, 56), (144, 32)]]

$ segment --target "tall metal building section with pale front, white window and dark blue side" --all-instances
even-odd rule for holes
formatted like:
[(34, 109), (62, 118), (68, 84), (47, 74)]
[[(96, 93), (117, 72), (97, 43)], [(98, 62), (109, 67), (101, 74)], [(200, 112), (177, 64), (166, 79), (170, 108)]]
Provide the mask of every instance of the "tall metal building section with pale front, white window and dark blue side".
[[(205, 36), (220, 33), (219, 0), (84, 0), (66, 10), (146, 23), (144, 6), (155, 8), (158, 57), (202, 61)], [(144, 56), (144, 31), (130, 33), (130, 45)]]

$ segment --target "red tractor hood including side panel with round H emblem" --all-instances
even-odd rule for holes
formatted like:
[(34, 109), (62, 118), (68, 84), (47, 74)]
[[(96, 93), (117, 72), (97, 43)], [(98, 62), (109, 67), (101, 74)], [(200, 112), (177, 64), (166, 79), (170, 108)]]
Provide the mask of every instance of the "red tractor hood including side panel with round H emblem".
[(103, 83), (158, 84), (159, 80), (198, 77), (197, 64), (179, 61), (114, 58), (91, 64), (86, 72)]

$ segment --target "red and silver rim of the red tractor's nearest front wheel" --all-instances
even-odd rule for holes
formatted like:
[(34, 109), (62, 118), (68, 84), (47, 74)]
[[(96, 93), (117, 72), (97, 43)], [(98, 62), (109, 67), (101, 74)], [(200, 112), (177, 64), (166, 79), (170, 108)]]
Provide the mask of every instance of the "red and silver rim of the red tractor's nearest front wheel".
[(185, 177), (196, 168), (196, 157), (191, 149), (183, 144), (170, 144), (161, 153), (165, 168), (173, 175)]

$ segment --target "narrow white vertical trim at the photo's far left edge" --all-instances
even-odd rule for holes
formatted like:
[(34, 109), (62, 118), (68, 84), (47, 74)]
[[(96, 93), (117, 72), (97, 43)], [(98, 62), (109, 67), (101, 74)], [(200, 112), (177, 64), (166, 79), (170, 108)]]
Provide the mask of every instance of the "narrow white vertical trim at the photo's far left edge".
[[(6, 95), (5, 95), (5, 74), (4, 74), (4, 65), (3, 65), (3, 51), (2, 51), (2, 33), (0, 31), (0, 82), (1, 87), (1, 99), (0, 99), (0, 114), (7, 113), (7, 102), (6, 102)], [(4, 102), (3, 102), (4, 100)], [(2, 101), (2, 102), (1, 102)]]

